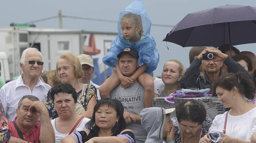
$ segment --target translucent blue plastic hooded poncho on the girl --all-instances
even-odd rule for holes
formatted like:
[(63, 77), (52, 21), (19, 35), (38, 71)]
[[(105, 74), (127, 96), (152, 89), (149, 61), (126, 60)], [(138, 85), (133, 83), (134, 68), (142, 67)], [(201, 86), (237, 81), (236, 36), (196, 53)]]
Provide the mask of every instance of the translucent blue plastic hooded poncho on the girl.
[[(120, 25), (120, 19), (126, 13), (134, 13), (141, 16), (143, 34), (145, 38), (132, 43), (123, 39), (123, 34)], [(151, 21), (148, 17), (148, 13), (142, 3), (141, 0), (135, 0), (129, 6), (127, 6), (124, 11), (119, 14), (119, 19), (117, 23), (118, 35), (116, 39), (111, 44), (110, 51), (106, 53), (102, 59), (102, 62), (111, 68), (116, 67), (117, 55), (127, 47), (134, 48), (139, 53), (138, 64), (139, 66), (143, 65), (143, 63), (147, 64), (146, 73), (149, 73), (153, 76), (153, 71), (157, 68), (157, 64), (159, 62), (159, 53), (156, 49), (156, 42), (150, 34)]]

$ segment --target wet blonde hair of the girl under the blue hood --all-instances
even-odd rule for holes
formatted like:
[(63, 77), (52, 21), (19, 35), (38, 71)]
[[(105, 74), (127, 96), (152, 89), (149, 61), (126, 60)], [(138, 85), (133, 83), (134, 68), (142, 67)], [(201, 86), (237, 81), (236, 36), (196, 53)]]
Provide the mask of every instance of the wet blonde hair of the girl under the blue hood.
[[(124, 19), (130, 19), (130, 21), (127, 21), (130, 25), (133, 25), (135, 27), (135, 32), (136, 32), (136, 36), (139, 36), (139, 35), (142, 35), (144, 36), (143, 34), (143, 28), (142, 28), (142, 22), (141, 22), (141, 17), (140, 15), (137, 15), (137, 14), (133, 14), (133, 13), (126, 13), (121, 19), (120, 19), (120, 24), (121, 24), (121, 21), (124, 20)], [(141, 26), (141, 29), (139, 32), (137, 32), (137, 28), (138, 26)], [(121, 24), (122, 26), (122, 24)], [(124, 38), (124, 36), (123, 36)]]

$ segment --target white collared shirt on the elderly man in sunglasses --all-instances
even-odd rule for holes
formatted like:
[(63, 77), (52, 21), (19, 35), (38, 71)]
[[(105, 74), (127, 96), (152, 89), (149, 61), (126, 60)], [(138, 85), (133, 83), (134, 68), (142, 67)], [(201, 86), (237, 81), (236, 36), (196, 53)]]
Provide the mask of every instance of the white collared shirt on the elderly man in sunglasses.
[(37, 79), (37, 83), (31, 93), (28, 86), (23, 83), (23, 74), (19, 76), (18, 79), (6, 83), (0, 89), (0, 99), (2, 101), (3, 110), (7, 115), (8, 121), (13, 121), (16, 116), (16, 109), (19, 100), (24, 95), (34, 95), (40, 101), (45, 103), (45, 98), (51, 86), (42, 82), (40, 78)]

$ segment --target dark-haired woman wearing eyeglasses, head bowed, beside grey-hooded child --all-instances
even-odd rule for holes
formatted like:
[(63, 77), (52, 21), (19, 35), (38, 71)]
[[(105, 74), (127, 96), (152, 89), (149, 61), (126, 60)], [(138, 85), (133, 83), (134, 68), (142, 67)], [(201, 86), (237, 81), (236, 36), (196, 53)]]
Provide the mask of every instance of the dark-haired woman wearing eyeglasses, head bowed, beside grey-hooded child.
[(179, 126), (174, 130), (175, 143), (198, 143), (212, 124), (212, 120), (206, 117), (204, 105), (193, 99), (176, 106), (176, 118)]

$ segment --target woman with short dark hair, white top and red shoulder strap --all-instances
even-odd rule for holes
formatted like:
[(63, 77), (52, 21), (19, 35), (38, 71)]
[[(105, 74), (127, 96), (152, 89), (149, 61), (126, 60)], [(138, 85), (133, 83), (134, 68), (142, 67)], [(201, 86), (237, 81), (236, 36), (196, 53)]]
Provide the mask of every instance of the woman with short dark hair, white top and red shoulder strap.
[(60, 143), (71, 132), (85, 130), (85, 124), (90, 119), (75, 113), (77, 95), (73, 86), (68, 83), (57, 84), (49, 93), (59, 115), (58, 118), (51, 120), (55, 143)]

